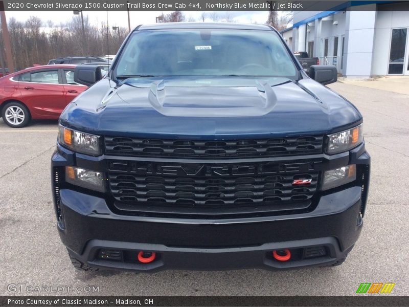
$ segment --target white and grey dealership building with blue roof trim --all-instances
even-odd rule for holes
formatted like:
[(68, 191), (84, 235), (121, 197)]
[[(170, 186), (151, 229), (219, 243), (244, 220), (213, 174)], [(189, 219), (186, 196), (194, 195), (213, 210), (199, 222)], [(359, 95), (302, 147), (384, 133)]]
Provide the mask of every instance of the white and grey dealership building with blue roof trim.
[(292, 51), (319, 57), (347, 78), (409, 76), (409, 4), (384, 3), (294, 12), (281, 34)]

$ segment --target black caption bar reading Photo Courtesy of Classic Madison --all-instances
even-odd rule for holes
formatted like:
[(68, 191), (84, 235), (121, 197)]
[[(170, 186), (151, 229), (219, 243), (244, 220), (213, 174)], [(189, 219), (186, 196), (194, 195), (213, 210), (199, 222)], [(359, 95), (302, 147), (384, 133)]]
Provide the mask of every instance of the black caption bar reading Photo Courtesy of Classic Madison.
[(0, 306), (409, 306), (407, 296), (2, 296)]

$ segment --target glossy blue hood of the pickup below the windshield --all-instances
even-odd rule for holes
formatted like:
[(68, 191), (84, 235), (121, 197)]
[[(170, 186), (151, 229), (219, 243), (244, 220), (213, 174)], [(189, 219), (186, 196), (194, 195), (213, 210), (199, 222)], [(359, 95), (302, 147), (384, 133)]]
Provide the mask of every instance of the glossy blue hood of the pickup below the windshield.
[(325, 134), (360, 121), (350, 102), (311, 79), (241, 77), (105, 78), (60, 117), (98, 135), (206, 139)]

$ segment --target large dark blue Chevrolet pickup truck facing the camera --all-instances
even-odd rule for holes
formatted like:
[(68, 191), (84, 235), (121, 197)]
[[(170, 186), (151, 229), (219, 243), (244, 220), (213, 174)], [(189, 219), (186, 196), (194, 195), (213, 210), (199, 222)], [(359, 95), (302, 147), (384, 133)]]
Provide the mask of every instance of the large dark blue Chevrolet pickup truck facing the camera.
[[(341, 264), (370, 157), (357, 108), (269, 26), (139, 26), (59, 119), (56, 223), (79, 270)], [(321, 84), (320, 84), (321, 83)]]

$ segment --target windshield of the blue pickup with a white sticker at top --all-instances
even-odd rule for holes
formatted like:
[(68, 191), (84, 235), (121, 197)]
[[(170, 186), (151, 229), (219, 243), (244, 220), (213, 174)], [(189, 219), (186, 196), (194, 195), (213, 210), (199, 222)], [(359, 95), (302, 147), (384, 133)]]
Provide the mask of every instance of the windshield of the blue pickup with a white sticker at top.
[(296, 79), (276, 32), (263, 30), (135, 31), (115, 64), (118, 79), (152, 76), (257, 76)]

